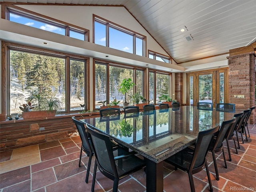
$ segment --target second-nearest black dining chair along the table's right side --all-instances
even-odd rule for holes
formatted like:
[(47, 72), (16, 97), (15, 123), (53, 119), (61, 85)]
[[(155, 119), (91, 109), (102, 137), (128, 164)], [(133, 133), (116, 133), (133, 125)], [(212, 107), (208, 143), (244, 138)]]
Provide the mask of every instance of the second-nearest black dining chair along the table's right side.
[(224, 158), (224, 163), (225, 163), (225, 168), (228, 168), (222, 143), (223, 143), (224, 140), (226, 140), (226, 138), (230, 134), (231, 128), (232, 128), (232, 126), (234, 125), (235, 122), (236, 122), (235, 117), (233, 117), (231, 120), (223, 121), (221, 126), (220, 126), (220, 129), (214, 135), (214, 138), (213, 138), (213, 140), (212, 140), (212, 142), (210, 143), (210, 146), (209, 146), (209, 151), (212, 152), (212, 158), (213, 158), (214, 168), (215, 168), (215, 173), (216, 173), (216, 180), (220, 180), (220, 177), (219, 177), (219, 172), (218, 172), (218, 166), (217, 166), (217, 162), (216, 162), (215, 153), (222, 151), (223, 158)]

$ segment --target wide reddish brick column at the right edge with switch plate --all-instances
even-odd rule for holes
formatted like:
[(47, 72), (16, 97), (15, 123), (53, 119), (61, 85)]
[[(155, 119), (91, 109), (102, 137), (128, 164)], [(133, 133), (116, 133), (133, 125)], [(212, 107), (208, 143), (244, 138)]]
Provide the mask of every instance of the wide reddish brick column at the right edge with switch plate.
[[(255, 106), (255, 51), (230, 50), (228, 56), (229, 102), (236, 108)], [(250, 116), (250, 124), (256, 123), (256, 112)]]

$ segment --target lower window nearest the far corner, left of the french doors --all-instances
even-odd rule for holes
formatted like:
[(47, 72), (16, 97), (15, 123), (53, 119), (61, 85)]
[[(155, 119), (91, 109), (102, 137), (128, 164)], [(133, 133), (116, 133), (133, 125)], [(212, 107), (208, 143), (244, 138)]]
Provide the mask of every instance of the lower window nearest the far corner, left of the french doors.
[(159, 102), (162, 94), (170, 95), (170, 76), (171, 74), (156, 71), (149, 72), (149, 99), (151, 103)]

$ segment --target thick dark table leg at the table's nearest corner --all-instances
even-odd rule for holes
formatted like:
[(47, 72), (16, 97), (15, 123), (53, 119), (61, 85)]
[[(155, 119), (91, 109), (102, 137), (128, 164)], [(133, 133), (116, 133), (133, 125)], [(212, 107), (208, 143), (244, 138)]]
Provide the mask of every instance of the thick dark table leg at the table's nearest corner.
[(164, 162), (155, 163), (146, 159), (146, 191), (162, 192), (164, 190)]

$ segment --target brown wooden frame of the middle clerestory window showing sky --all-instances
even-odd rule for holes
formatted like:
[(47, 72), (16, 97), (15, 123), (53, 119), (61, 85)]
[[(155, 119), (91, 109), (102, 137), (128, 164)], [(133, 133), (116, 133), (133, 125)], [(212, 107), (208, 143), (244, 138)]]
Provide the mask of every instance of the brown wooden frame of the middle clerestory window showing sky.
[(95, 14), (93, 14), (93, 43), (95, 43), (95, 22), (106, 25), (106, 47), (109, 47), (109, 28), (112, 27), (116, 30), (119, 30), (120, 32), (124, 32), (133, 36), (133, 54), (136, 54), (136, 38), (142, 39), (142, 56), (146, 56), (146, 36), (115, 24), (114, 22), (106, 20), (100, 16), (96, 16)]

